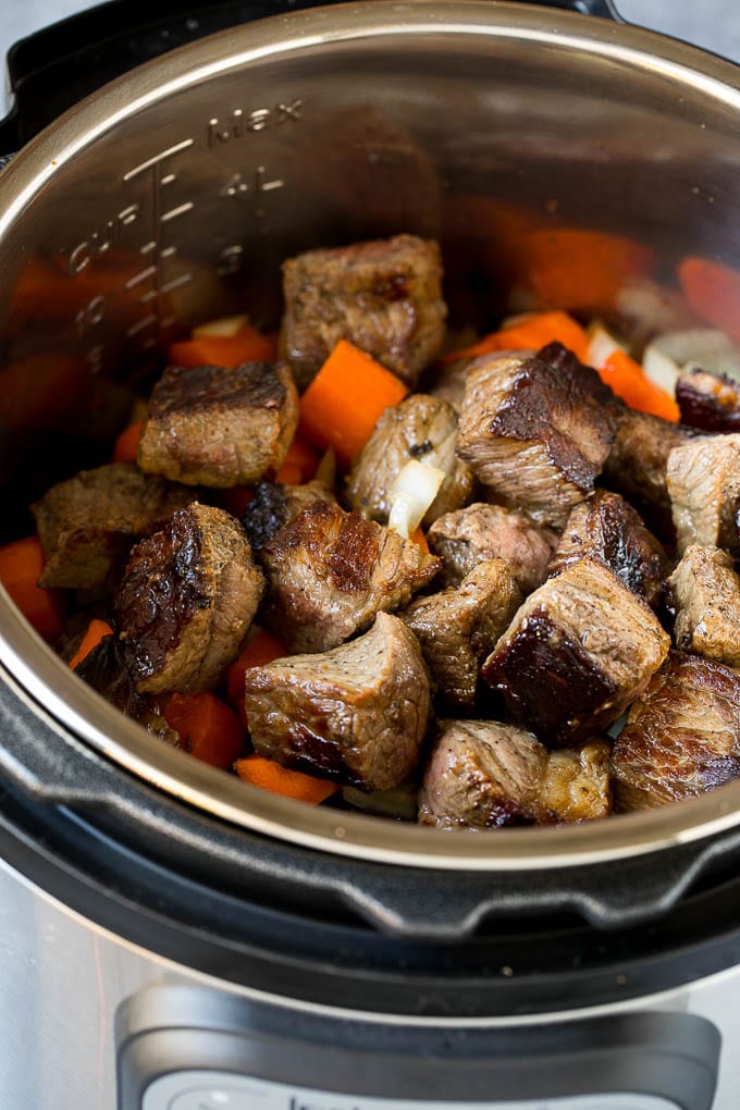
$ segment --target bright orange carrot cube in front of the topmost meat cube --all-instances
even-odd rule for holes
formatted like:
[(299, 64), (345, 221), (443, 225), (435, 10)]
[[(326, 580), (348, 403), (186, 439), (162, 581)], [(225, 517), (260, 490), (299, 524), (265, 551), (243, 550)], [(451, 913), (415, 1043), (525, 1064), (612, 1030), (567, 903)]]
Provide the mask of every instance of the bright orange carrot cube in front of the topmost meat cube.
[(369, 440), (381, 413), (407, 393), (389, 370), (339, 340), (301, 397), (301, 434), (318, 451), (333, 447), (346, 465)]

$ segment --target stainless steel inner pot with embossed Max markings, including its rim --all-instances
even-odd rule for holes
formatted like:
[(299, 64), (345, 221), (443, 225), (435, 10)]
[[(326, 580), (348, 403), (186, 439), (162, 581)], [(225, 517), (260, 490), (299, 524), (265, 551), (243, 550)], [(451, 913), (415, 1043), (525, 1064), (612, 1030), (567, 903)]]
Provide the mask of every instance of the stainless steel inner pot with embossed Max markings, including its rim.
[[(418, 0), (249, 24), (107, 87), (0, 176), (7, 504), (107, 460), (179, 327), (244, 305), (274, 325), (280, 262), (308, 246), (436, 236), (453, 313), (481, 320), (501, 295), (506, 205), (632, 236), (658, 253), (666, 289), (686, 254), (740, 266), (738, 77), (607, 20)], [(158, 788), (334, 852), (541, 868), (740, 824), (737, 783), (588, 827), (435, 835), (291, 803), (169, 749), (72, 675), (4, 595), (0, 665), (54, 727)]]

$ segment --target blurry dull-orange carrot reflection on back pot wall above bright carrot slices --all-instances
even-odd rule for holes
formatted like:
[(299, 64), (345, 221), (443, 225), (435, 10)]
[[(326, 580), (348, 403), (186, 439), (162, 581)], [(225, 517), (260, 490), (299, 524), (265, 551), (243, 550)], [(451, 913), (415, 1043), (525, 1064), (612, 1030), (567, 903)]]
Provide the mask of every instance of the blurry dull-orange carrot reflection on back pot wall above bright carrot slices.
[(580, 228), (530, 232), (517, 262), (518, 282), (536, 304), (585, 315), (611, 312), (628, 279), (655, 266), (652, 252), (631, 239)]

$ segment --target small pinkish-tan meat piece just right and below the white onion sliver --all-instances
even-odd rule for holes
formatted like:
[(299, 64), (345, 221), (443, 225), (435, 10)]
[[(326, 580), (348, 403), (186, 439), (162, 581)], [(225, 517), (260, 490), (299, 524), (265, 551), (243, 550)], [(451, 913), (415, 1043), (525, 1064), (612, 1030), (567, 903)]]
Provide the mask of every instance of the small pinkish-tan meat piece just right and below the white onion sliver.
[(538, 528), (524, 513), (477, 503), (440, 516), (426, 538), (442, 558), (443, 585), (458, 586), (478, 563), (503, 558), (523, 594), (540, 585), (557, 543), (554, 532)]

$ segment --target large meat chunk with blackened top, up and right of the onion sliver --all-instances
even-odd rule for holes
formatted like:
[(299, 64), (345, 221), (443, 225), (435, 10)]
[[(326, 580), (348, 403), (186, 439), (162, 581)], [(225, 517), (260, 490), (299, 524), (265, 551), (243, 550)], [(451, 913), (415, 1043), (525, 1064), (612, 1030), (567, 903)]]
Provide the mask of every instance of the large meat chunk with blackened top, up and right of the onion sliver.
[(562, 527), (615, 437), (605, 397), (596, 371), (559, 344), (535, 359), (494, 357), (468, 372), (457, 453), (497, 500)]

